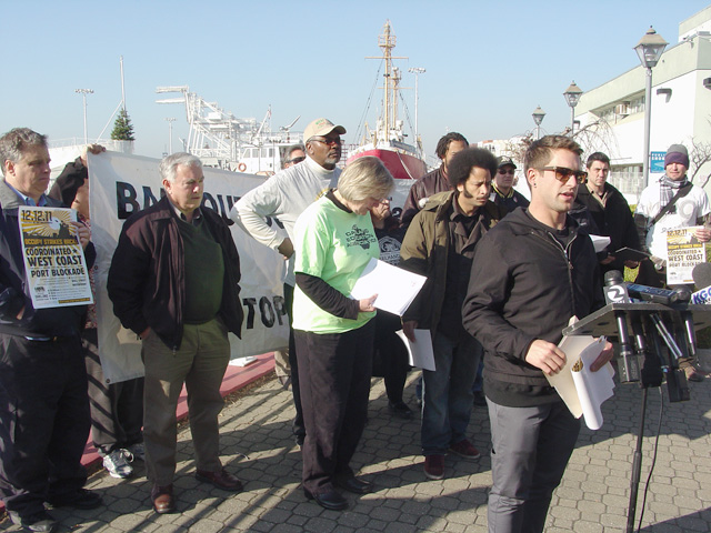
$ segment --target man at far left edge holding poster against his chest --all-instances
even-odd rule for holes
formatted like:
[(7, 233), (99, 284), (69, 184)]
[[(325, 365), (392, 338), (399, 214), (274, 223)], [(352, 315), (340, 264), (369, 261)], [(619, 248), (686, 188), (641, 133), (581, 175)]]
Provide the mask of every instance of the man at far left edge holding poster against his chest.
[[(18, 211), (59, 208), (49, 184), (47, 138), (16, 128), (0, 138), (0, 496), (27, 531), (54, 531), (44, 510), (93, 509), (101, 497), (82, 489), (89, 436), (87, 370), (79, 336), (86, 305), (34, 309), (24, 270)], [(74, 223), (87, 266), (91, 232)]]

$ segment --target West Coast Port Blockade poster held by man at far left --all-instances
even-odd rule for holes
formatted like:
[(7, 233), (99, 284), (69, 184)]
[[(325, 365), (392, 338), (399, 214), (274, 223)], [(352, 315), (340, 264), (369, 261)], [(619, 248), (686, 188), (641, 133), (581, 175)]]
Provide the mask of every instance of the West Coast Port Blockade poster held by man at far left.
[(77, 212), (22, 205), (18, 214), (32, 306), (92, 303), (89, 270), (72, 225)]

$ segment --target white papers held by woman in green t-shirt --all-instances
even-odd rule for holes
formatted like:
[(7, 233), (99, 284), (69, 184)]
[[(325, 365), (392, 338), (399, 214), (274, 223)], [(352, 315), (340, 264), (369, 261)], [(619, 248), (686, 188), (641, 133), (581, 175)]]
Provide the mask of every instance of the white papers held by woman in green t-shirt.
[(427, 278), (399, 269), (378, 259), (371, 259), (360, 275), (351, 298), (361, 300), (378, 294), (375, 308), (402, 316)]

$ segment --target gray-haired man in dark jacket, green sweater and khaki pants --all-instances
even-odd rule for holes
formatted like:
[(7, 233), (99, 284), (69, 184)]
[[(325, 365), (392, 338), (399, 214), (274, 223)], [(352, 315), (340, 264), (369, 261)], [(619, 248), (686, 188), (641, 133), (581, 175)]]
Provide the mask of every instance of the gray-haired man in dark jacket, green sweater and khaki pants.
[(201, 208), (202, 163), (174, 153), (161, 161), (160, 174), (166, 197), (127, 220), (107, 288), (116, 315), (142, 340), (146, 466), (153, 509), (163, 514), (176, 509), (176, 406), (183, 383), (196, 477), (242, 489), (220, 462), (218, 414), (228, 331), (240, 335), (243, 311), (232, 235), (218, 213)]

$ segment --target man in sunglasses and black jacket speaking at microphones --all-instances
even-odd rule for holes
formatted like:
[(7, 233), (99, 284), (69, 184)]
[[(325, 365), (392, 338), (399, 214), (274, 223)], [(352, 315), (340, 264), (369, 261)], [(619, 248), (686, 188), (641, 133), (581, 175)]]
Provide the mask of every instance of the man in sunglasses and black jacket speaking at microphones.
[[(581, 153), (577, 142), (562, 135), (530, 145), (524, 172), (531, 204), (489, 231), (472, 263), (462, 316), (485, 350), (490, 532), (543, 531), (580, 432), (580, 421), (545, 374), (565, 365), (557, 344), (569, 320), (604, 305), (592, 242), (568, 215), (587, 178)], [(611, 358), (608, 343), (591, 370)]]

